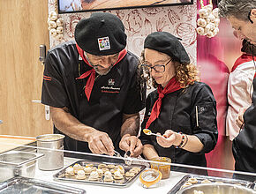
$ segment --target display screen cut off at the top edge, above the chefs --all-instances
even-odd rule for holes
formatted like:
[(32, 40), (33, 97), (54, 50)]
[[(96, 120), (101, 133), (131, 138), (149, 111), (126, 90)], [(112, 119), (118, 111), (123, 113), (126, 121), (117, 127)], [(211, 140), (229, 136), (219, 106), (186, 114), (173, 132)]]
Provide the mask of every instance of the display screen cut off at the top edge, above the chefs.
[(193, 0), (58, 0), (58, 12), (106, 11), (181, 4), (193, 4)]

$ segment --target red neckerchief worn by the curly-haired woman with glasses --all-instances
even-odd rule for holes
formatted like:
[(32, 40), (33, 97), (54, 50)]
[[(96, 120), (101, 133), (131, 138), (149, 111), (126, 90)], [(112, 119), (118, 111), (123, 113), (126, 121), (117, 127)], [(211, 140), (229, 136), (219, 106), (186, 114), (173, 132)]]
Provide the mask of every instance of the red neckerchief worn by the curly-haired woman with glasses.
[(164, 95), (167, 93), (173, 93), (179, 89), (181, 89), (181, 86), (177, 82), (177, 79), (175, 77), (171, 78), (168, 85), (165, 86), (163, 89), (162, 86), (157, 86), (158, 99), (154, 102), (154, 106), (152, 108), (151, 115), (147, 121), (146, 128), (148, 128), (150, 124), (154, 122), (156, 118), (158, 118), (161, 111), (162, 98), (164, 97)]

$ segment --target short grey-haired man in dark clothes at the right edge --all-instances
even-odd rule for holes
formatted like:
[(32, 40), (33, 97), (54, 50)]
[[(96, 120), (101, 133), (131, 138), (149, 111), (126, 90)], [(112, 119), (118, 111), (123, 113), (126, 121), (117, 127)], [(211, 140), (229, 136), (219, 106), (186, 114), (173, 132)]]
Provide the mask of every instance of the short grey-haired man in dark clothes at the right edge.
[[(239, 14), (237, 14), (239, 13)], [(219, 3), (219, 14), (227, 18), (240, 39), (256, 45), (256, 0), (222, 0)], [(254, 55), (252, 51), (252, 61)], [(252, 104), (237, 116), (237, 124), (244, 124), (244, 128), (233, 139), (233, 155), (235, 169), (256, 173), (256, 78), (253, 79)], [(248, 178), (243, 175), (234, 175), (238, 178)], [(254, 177), (252, 179), (255, 179)]]

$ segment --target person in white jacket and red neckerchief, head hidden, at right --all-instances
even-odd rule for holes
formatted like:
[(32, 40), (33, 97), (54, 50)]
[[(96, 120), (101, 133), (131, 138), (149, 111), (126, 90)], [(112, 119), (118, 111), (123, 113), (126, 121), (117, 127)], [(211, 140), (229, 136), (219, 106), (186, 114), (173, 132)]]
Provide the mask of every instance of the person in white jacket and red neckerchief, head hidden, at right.
[[(252, 58), (253, 45), (248, 41), (243, 41), (241, 51), (242, 56), (237, 58), (229, 77), (228, 101), (229, 108), (226, 119), (227, 135), (232, 141), (237, 137), (241, 125), (237, 124), (236, 118), (238, 112), (252, 104), (252, 80), (255, 76), (255, 66)], [(253, 50), (255, 55), (256, 49)]]

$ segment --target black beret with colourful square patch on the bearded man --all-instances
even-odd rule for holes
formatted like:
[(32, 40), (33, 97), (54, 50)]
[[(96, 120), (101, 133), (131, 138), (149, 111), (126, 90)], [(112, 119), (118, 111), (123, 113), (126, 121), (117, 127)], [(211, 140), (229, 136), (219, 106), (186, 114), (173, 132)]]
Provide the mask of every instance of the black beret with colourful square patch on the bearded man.
[(95, 56), (114, 55), (126, 46), (124, 24), (116, 15), (95, 12), (81, 19), (75, 29), (79, 47)]

